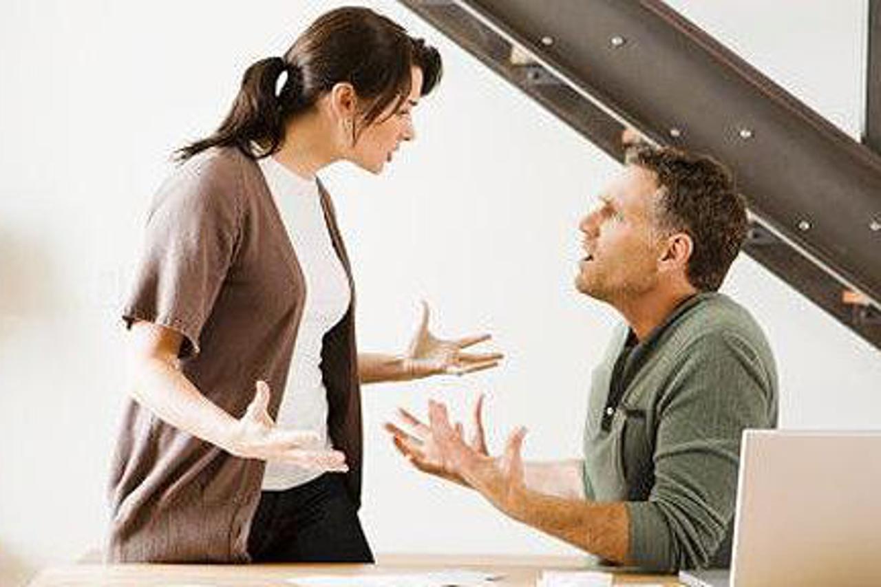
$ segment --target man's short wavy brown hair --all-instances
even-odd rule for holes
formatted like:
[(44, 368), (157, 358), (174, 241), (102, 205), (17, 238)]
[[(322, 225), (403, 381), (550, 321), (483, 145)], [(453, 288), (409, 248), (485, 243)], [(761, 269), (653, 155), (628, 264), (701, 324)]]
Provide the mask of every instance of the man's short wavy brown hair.
[(626, 145), (626, 163), (656, 175), (657, 227), (692, 237), (689, 282), (700, 291), (719, 289), (747, 232), (746, 204), (729, 170), (707, 155), (645, 143)]

